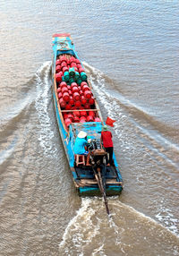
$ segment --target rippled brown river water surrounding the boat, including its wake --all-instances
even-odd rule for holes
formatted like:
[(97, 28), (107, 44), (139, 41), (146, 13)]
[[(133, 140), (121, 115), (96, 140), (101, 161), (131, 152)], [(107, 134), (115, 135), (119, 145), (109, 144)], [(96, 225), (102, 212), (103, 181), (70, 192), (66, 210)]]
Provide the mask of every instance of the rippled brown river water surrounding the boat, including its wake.
[[(178, 1), (0, 0), (0, 256), (179, 255)], [(75, 192), (51, 93), (51, 36), (69, 32), (124, 191)]]

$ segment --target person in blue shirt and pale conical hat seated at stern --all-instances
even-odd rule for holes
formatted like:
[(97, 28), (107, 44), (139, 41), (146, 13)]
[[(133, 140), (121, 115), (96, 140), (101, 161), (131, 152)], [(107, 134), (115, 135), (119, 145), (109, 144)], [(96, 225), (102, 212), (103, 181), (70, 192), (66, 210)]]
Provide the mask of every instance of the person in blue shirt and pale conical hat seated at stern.
[(74, 142), (74, 154), (75, 155), (85, 155), (87, 156), (86, 166), (90, 166), (90, 152), (86, 150), (87, 146), (87, 132), (79, 132), (75, 142)]

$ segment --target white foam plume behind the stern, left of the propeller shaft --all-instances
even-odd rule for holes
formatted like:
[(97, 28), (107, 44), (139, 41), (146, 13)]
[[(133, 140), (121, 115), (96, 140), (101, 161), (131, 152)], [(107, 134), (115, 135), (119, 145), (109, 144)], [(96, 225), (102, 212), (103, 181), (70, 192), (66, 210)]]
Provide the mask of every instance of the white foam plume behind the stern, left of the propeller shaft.
[[(118, 246), (121, 243), (121, 234), (124, 229), (121, 226), (116, 226), (111, 218), (107, 218), (104, 202), (101, 198), (83, 198), (81, 209), (76, 212), (76, 216), (72, 218), (65, 229), (62, 242), (59, 244), (60, 253), (71, 255), (70, 249), (72, 249), (78, 252), (78, 255), (85, 255), (83, 252), (85, 247), (90, 246), (91, 255), (106, 256), (104, 245), (107, 236), (101, 236), (101, 229), (103, 228), (107, 228), (107, 232), (110, 232), (111, 228), (113, 229), (112, 234), (115, 234), (115, 244)], [(96, 242), (94, 243), (94, 241)], [(91, 246), (91, 244), (93, 245)]]

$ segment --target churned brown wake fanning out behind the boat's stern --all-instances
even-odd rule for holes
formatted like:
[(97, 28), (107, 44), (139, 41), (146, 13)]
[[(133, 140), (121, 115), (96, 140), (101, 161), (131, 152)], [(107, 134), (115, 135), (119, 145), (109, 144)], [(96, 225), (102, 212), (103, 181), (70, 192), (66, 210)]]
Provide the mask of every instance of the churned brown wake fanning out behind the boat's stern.
[[(160, 243), (166, 243), (164, 248), (177, 255), (175, 244), (179, 244), (179, 239), (164, 226), (116, 197), (110, 198), (108, 203), (112, 212), (110, 218), (101, 199), (82, 199), (81, 209), (65, 229), (59, 255), (139, 255), (138, 241), (141, 239), (146, 242), (142, 255), (156, 255)], [(158, 255), (167, 254), (166, 251), (162, 253)]]

